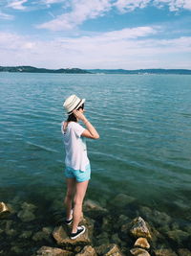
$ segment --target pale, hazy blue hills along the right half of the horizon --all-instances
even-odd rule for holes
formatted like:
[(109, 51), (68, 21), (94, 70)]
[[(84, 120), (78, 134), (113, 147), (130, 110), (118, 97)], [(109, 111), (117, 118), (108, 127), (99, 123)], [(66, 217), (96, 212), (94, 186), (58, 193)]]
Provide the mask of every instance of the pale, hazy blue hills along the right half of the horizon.
[(177, 75), (191, 75), (189, 69), (88, 69), (91, 73), (102, 74), (126, 74), (126, 75), (145, 75), (145, 74), (177, 74)]

